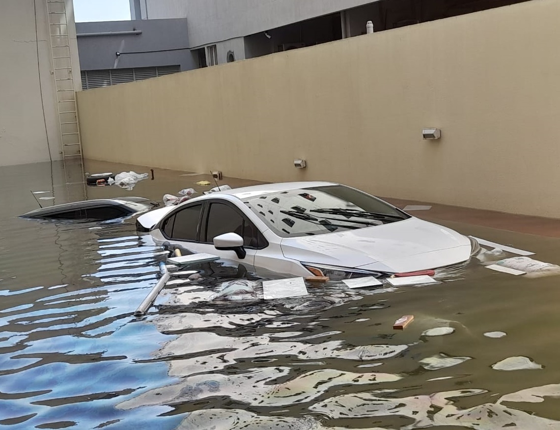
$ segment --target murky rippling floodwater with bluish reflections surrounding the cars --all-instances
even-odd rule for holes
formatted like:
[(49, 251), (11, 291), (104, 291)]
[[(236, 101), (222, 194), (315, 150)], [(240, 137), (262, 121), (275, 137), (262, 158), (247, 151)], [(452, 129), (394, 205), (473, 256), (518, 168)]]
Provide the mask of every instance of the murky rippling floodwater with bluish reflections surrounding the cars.
[[(137, 235), (134, 218), (17, 216), (37, 208), (36, 198), (161, 200), (208, 189), (194, 184), (208, 177), (156, 169), (155, 180), (127, 191), (86, 187), (81, 172), (51, 167), (0, 168), (2, 426), (560, 429), (560, 278), (473, 262), (422, 287), (329, 282), (309, 286), (309, 296), (264, 301), (258, 276), (218, 261), (195, 267), (199, 279), (175, 274), (136, 318), (166, 254)], [(557, 239), (445, 224), (560, 263)], [(246, 291), (220, 293), (232, 283)], [(412, 324), (393, 330), (403, 315)]]

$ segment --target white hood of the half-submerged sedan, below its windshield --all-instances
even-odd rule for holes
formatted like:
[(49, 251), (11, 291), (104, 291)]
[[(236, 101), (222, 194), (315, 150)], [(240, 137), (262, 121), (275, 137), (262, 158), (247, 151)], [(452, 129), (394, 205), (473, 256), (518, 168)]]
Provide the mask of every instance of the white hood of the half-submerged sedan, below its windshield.
[(470, 258), (470, 240), (418, 218), (343, 233), (282, 239), (286, 258), (306, 263), (402, 273)]

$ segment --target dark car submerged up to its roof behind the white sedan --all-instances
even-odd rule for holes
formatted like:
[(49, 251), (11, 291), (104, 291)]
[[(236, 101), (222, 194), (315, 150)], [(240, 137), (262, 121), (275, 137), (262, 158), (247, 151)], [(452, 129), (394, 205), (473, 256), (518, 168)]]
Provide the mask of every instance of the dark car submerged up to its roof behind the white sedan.
[(143, 197), (119, 197), (116, 199), (83, 200), (35, 209), (20, 218), (66, 219), (82, 221), (108, 221), (145, 212), (158, 204)]

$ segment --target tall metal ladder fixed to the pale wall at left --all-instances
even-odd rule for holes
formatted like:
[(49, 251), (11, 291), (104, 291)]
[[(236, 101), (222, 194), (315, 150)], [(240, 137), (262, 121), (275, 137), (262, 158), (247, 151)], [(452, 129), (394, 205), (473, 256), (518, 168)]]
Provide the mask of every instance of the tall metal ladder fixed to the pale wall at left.
[(46, 13), (49, 24), (50, 52), (53, 58), (53, 75), (57, 90), (62, 157), (64, 161), (68, 157), (80, 157), (83, 166), (66, 1), (46, 0)]

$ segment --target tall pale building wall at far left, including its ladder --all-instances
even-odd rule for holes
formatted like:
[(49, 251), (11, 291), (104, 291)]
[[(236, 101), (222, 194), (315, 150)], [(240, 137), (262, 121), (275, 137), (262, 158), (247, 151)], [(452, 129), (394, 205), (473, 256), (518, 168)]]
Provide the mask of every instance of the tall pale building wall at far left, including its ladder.
[(0, 52), (0, 165), (77, 152), (80, 64), (72, 1), (2, 0)]

